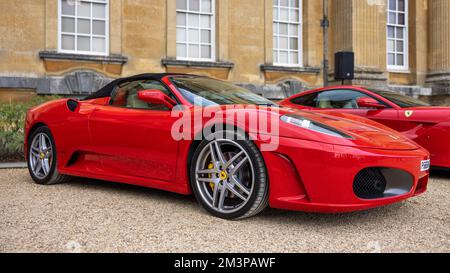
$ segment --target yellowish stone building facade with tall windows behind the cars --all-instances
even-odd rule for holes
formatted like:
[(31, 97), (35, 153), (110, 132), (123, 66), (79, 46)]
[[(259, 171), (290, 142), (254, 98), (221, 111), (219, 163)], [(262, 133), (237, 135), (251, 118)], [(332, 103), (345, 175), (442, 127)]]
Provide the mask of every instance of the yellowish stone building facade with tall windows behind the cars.
[[(450, 1), (329, 0), (329, 79), (450, 94)], [(283, 98), (323, 84), (320, 0), (0, 0), (0, 100), (84, 95), (147, 72), (209, 75)]]

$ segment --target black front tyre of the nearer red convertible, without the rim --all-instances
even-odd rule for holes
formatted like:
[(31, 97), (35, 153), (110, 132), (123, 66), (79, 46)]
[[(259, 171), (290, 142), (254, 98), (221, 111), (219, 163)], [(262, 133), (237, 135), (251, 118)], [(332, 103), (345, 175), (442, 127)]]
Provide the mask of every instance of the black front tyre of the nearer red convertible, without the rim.
[[(241, 132), (217, 132), (214, 134), (214, 139), (217, 139), (218, 136), (220, 138), (223, 137), (223, 139), (227, 139), (226, 136), (233, 135), (233, 140), (239, 144), (242, 149), (248, 154), (248, 158), (251, 161), (251, 164), (253, 166), (253, 172), (254, 172), (254, 187), (249, 195), (249, 199), (247, 203), (240, 208), (238, 211), (233, 213), (222, 213), (219, 212), (213, 208), (203, 199), (201, 193), (200, 193), (200, 186), (199, 183), (197, 183), (197, 175), (196, 175), (196, 166), (197, 161), (199, 160), (199, 156), (202, 152), (202, 150), (208, 146), (212, 141), (214, 140), (203, 140), (200, 145), (197, 147), (193, 158), (192, 163), (190, 165), (190, 182), (191, 187), (193, 189), (193, 192), (195, 194), (195, 197), (198, 201), (198, 203), (206, 209), (209, 213), (212, 215), (226, 219), (226, 220), (235, 220), (235, 219), (245, 219), (252, 216), (255, 216), (262, 212), (267, 206), (268, 206), (268, 199), (269, 199), (269, 182), (268, 182), (268, 175), (266, 166), (264, 163), (264, 159), (258, 149), (258, 147), (253, 143), (253, 141), (249, 140), (248, 137), (246, 137)], [(244, 138), (243, 138), (244, 136)], [(238, 138), (239, 137), (239, 138)], [(207, 138), (208, 139), (208, 138)], [(245, 140), (241, 140), (245, 139)]]

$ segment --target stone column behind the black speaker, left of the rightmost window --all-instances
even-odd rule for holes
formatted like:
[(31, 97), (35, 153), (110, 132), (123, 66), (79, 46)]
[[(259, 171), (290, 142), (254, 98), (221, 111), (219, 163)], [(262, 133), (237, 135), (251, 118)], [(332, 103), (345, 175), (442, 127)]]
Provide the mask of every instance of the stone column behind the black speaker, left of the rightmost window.
[[(386, 1), (332, 1), (332, 56), (337, 51), (355, 52), (352, 84), (385, 85)], [(332, 62), (334, 64), (334, 61)]]

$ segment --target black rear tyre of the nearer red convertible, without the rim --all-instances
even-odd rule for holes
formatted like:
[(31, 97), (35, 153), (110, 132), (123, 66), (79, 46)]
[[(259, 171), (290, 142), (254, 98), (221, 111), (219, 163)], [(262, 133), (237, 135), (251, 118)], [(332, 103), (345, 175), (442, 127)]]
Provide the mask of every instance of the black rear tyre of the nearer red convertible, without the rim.
[[(48, 172), (48, 174), (45, 177), (37, 177), (32, 169), (31, 166), (31, 160), (30, 160), (30, 154), (31, 154), (31, 144), (33, 142), (33, 139), (39, 135), (39, 134), (45, 134), (48, 139), (51, 142), (52, 145), (52, 163), (50, 166), (50, 171)], [(28, 138), (28, 145), (27, 145), (27, 165), (28, 165), (28, 171), (30, 172), (31, 178), (33, 179), (34, 182), (36, 182), (39, 185), (54, 185), (54, 184), (60, 184), (60, 183), (65, 183), (67, 181), (69, 181), (71, 179), (70, 176), (67, 175), (61, 175), (58, 173), (58, 170), (56, 168), (57, 165), (57, 152), (56, 152), (56, 145), (55, 145), (55, 140), (53, 138), (53, 135), (50, 131), (50, 129), (47, 126), (41, 126), (39, 128), (37, 128), (36, 130), (34, 130), (29, 138)]]

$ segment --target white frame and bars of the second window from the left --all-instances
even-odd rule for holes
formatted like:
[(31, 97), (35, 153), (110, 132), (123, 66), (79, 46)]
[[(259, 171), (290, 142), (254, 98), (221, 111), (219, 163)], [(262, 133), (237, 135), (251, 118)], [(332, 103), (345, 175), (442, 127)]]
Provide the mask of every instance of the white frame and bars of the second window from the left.
[[(186, 42), (183, 44), (186, 44), (186, 57), (179, 57), (178, 56), (178, 52), (177, 52), (177, 60), (180, 61), (197, 61), (197, 62), (215, 62), (216, 61), (216, 0), (211, 0), (211, 12), (202, 12), (202, 1), (200, 0), (200, 11), (191, 11), (189, 10), (189, 0), (187, 0), (187, 8), (188, 10), (183, 10), (183, 9), (178, 9), (178, 7), (176, 7), (176, 13), (178, 12), (182, 12), (182, 13), (186, 13), (186, 15), (188, 14), (198, 14), (198, 15), (209, 15), (211, 16), (211, 58), (202, 58), (201, 57), (201, 46), (202, 45), (206, 45), (206, 44), (202, 44), (201, 42), (201, 32), (200, 32), (200, 37), (199, 37), (199, 43), (195, 44), (198, 45), (199, 48), (199, 56), (198, 58), (191, 58), (189, 57), (189, 42), (188, 42), (188, 31), (186, 31)], [(189, 29), (189, 16), (186, 16), (186, 29)], [(176, 25), (175, 28), (178, 28), (178, 25)], [(199, 27), (198, 29), (202, 29), (199, 23)], [(175, 43), (178, 44), (178, 37), (175, 34)], [(208, 44), (209, 45), (209, 44)]]

